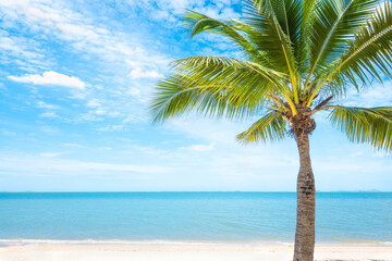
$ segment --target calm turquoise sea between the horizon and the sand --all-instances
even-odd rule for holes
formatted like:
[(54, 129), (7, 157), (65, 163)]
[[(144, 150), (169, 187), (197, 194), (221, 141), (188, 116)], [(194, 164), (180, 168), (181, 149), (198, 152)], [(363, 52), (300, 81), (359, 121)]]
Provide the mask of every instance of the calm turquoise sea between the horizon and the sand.
[[(294, 192), (0, 192), (0, 239), (294, 240)], [(318, 241), (392, 241), (392, 192), (318, 192)]]

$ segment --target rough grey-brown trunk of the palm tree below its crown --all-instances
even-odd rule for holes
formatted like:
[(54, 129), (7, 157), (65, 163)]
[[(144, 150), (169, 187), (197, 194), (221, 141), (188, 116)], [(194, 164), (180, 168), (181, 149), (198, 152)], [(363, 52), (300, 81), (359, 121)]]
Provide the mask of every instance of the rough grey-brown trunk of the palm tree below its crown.
[(294, 261), (313, 261), (315, 251), (315, 177), (308, 134), (295, 135), (299, 152)]

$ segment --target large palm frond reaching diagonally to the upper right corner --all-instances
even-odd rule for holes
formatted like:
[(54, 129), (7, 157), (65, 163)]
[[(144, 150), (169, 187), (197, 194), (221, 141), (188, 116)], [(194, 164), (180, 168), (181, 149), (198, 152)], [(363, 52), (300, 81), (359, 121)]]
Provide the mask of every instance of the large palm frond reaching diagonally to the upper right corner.
[[(340, 88), (345, 92), (346, 86), (357, 89), (371, 84), (382, 76), (392, 78), (392, 3), (383, 2), (356, 33), (348, 50), (330, 64), (321, 74), (322, 80), (314, 88), (314, 97), (327, 83), (331, 91)], [(313, 98), (309, 99), (310, 105)]]

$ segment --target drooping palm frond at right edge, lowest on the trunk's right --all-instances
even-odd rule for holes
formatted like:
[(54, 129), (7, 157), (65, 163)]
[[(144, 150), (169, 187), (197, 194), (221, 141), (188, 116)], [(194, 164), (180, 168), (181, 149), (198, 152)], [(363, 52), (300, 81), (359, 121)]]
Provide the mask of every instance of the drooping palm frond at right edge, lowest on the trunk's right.
[(392, 107), (333, 107), (329, 119), (348, 140), (392, 150)]

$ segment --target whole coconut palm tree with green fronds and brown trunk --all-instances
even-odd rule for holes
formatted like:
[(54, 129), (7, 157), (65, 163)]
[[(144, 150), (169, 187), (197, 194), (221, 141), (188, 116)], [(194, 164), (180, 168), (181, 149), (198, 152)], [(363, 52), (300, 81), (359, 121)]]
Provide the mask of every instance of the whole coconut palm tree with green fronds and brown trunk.
[[(155, 122), (195, 111), (209, 116), (257, 116), (241, 142), (293, 137), (299, 152), (295, 261), (314, 258), (315, 179), (309, 156), (314, 115), (351, 141), (392, 149), (392, 108), (351, 108), (339, 101), (392, 78), (390, 0), (244, 0), (243, 17), (218, 21), (187, 11), (185, 27), (225, 37), (241, 58), (189, 57), (173, 62), (151, 101)], [(326, 114), (321, 114), (326, 115)]]

